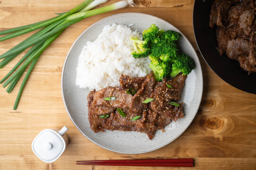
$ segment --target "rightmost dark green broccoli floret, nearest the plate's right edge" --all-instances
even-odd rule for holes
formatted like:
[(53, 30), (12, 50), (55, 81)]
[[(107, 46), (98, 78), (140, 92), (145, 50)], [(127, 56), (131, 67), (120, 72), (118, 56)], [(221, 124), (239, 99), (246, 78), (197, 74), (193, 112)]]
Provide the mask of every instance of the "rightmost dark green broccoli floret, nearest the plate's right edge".
[(194, 61), (186, 54), (181, 54), (176, 57), (172, 64), (170, 76), (177, 76), (180, 72), (183, 75), (188, 75), (194, 69)]

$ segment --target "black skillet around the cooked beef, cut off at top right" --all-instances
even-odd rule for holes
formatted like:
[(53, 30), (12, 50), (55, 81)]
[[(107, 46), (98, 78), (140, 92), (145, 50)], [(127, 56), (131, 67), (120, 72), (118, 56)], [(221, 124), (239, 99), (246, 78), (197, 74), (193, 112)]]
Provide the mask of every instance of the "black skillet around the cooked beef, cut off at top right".
[(209, 27), (209, 14), (214, 0), (195, 0), (193, 11), (194, 36), (208, 66), (228, 84), (248, 93), (256, 94), (256, 73), (247, 74), (239, 63), (220, 56), (216, 50), (216, 27)]

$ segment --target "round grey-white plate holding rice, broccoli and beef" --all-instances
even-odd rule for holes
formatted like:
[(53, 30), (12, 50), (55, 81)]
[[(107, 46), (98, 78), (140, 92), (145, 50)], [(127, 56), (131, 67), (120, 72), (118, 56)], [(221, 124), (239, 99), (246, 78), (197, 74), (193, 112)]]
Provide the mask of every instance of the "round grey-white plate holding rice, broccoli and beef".
[(102, 32), (104, 26), (112, 25), (113, 23), (126, 26), (134, 24), (131, 29), (140, 33), (149, 28), (151, 24), (156, 24), (163, 30), (174, 30), (181, 33), (168, 22), (147, 14), (123, 13), (101, 19), (88, 27), (77, 38), (67, 54), (62, 71), (63, 102), (72, 122), (93, 143), (117, 153), (137, 154), (154, 151), (171, 143), (180, 136), (194, 119), (203, 93), (203, 76), (200, 62), (192, 45), (181, 33), (182, 38), (178, 41), (179, 47), (181, 51), (194, 59), (195, 69), (187, 77), (181, 94), (181, 102), (185, 102), (183, 106), (185, 117), (165, 127), (165, 132), (158, 130), (152, 140), (149, 140), (146, 134), (140, 132), (106, 131), (94, 133), (90, 129), (87, 115), (87, 95), (89, 90), (76, 86), (76, 68), (79, 54), (86, 42), (94, 41), (98, 34)]

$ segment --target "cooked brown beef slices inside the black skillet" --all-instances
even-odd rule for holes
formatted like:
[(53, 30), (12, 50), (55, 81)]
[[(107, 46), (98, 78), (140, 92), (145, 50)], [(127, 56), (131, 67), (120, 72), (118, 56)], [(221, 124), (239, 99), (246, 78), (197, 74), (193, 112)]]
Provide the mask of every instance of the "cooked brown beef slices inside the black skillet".
[(256, 73), (255, 10), (255, 0), (215, 0), (209, 21), (210, 27), (217, 25), (220, 55), (237, 60), (248, 73)]

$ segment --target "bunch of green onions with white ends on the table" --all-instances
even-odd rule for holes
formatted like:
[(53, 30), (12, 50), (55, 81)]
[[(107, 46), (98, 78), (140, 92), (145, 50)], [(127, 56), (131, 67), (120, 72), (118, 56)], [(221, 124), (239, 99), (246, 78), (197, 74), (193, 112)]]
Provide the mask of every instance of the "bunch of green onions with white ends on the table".
[[(25, 72), (26, 68), (28, 68), (26, 72), (26, 76), (24, 77), (22, 84), (20, 86), (15, 104), (14, 110), (17, 109), (18, 103), (23, 92), (23, 89), (26, 85), (26, 81), (30, 76), (33, 68), (37, 60), (42, 55), (43, 51), (60, 35), (62, 32), (72, 24), (75, 24), (84, 18), (91, 17), (97, 14), (102, 14), (105, 12), (113, 11), (116, 9), (124, 8), (127, 5), (133, 6), (134, 3), (132, 0), (121, 0), (114, 4), (108, 5), (106, 7), (93, 9), (92, 8), (105, 3), (107, 0), (85, 0), (77, 7), (71, 9), (70, 11), (64, 12), (62, 14), (58, 14), (59, 16), (53, 17), (48, 20), (44, 20), (35, 24), (20, 26), (17, 28), (12, 28), (5, 31), (0, 31), (0, 35), (7, 34), (5, 36), (0, 37), (0, 41), (8, 40), (10, 38), (14, 38), (16, 36), (26, 34), (28, 32), (34, 31), (39, 28), (43, 28), (37, 33), (31, 35), (23, 42), (20, 42), (15, 47), (11, 48), (9, 51), (0, 55), (0, 68), (3, 68), (6, 64), (8, 64), (12, 59), (18, 56), (25, 49), (33, 46), (26, 54), (18, 61), (18, 63), (9, 71), (9, 73), (4, 76), (0, 83), (3, 84), (3, 87), (7, 85), (7, 92), (10, 93), (15, 85), (18, 83), (22, 74)], [(29, 66), (30, 65), (30, 66)]]

